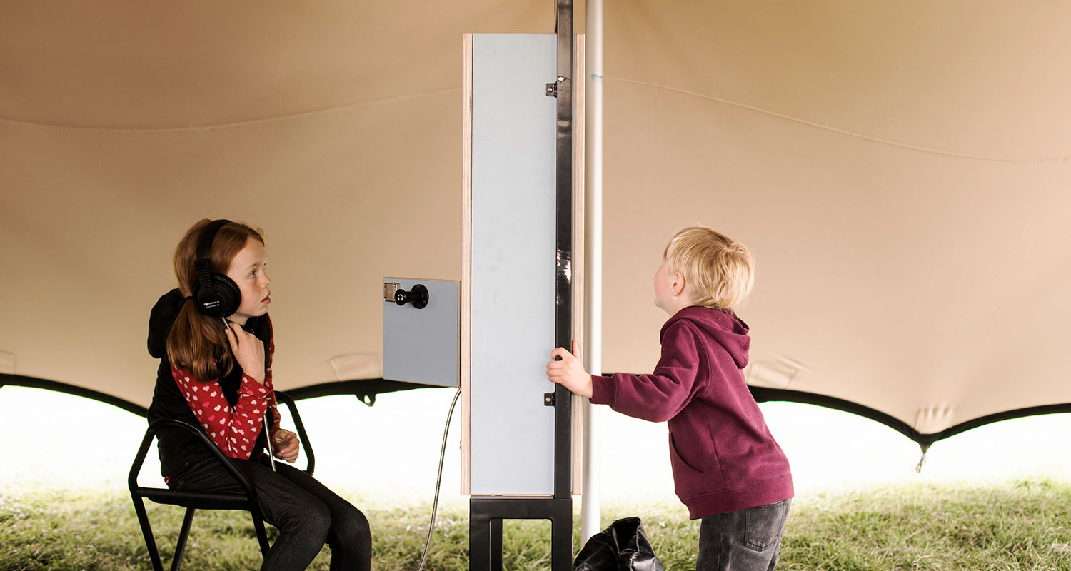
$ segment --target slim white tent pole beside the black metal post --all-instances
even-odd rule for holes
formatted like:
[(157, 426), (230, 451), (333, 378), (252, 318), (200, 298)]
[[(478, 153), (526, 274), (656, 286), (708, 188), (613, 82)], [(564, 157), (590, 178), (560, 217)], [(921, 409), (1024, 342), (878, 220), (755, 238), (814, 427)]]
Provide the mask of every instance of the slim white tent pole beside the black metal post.
[[(586, 284), (583, 348), (585, 367), (602, 373), (602, 46), (603, 2), (587, 0), (584, 124), (584, 269)], [(602, 529), (602, 419), (599, 406), (584, 399), (584, 493), (580, 502), (580, 544)]]

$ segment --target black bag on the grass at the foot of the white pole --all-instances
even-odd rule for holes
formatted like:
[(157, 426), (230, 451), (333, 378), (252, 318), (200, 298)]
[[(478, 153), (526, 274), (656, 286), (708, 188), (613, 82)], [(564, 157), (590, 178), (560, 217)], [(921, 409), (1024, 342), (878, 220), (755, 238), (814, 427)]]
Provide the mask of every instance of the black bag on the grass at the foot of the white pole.
[(573, 561), (573, 571), (664, 571), (639, 517), (618, 520), (591, 536)]

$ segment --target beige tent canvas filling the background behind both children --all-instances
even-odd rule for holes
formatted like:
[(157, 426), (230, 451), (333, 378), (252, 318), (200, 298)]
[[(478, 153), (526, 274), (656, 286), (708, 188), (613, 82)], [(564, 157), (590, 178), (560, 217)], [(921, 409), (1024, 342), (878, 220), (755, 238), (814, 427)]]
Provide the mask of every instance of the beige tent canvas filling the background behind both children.
[[(756, 256), (759, 399), (923, 445), (1071, 409), (1069, 19), (607, 2), (603, 369), (655, 362), (651, 276), (700, 223)], [(171, 251), (230, 217), (267, 234), (278, 386), (374, 393), (380, 279), (461, 271), (462, 34), (553, 31), (548, 1), (6, 2), (0, 382), (144, 410)]]

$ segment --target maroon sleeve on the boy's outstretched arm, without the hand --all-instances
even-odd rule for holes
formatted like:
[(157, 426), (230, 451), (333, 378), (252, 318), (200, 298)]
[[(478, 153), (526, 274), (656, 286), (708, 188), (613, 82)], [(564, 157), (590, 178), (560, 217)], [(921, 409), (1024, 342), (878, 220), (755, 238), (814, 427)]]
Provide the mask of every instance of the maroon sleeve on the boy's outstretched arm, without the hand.
[(662, 358), (650, 375), (615, 373), (591, 376), (591, 402), (651, 422), (677, 416), (699, 390), (699, 346), (684, 324), (670, 327), (662, 339)]

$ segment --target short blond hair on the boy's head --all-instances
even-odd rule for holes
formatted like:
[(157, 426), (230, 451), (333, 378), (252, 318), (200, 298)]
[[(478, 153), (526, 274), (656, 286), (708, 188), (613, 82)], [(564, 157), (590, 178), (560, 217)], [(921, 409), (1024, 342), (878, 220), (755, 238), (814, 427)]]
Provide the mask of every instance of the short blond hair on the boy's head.
[(684, 274), (696, 305), (735, 310), (755, 283), (755, 261), (748, 247), (704, 226), (675, 234), (662, 258), (669, 262), (670, 273)]

